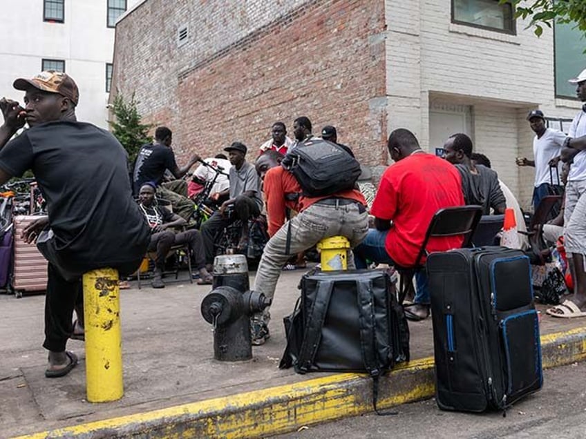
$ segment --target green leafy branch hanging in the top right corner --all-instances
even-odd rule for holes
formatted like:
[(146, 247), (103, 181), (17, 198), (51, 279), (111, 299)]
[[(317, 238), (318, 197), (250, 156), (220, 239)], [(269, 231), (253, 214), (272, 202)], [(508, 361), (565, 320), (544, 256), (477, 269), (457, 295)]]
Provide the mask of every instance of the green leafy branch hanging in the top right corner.
[[(533, 28), (535, 35), (540, 37), (543, 27), (553, 27), (554, 23), (572, 23), (583, 35), (586, 35), (586, 1), (585, 0), (499, 0), (499, 3), (512, 3), (515, 8), (515, 17), (527, 19), (531, 22), (528, 28)], [(586, 52), (586, 49), (585, 49)]]

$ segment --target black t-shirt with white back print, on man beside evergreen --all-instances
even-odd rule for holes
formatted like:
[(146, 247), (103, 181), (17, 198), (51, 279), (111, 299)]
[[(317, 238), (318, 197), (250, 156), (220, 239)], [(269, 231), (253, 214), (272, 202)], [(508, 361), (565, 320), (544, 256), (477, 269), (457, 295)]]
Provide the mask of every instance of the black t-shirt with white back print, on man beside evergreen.
[(164, 171), (174, 170), (177, 167), (175, 154), (168, 146), (161, 144), (143, 145), (136, 157), (133, 171), (133, 190), (135, 194), (140, 192), (140, 186), (151, 182), (155, 186), (161, 184)]

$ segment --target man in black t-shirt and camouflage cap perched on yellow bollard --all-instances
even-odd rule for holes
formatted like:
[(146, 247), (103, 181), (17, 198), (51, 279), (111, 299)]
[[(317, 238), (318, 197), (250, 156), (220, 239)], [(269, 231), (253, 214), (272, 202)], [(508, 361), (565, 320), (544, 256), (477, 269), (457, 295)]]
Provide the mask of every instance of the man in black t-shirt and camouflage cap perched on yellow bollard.
[[(78, 122), (75, 81), (62, 72), (41, 72), (17, 79), (23, 108), (3, 98), (0, 109), (0, 184), (30, 169), (46, 199), (48, 216), (23, 231), (37, 238), (48, 260), (45, 302), (45, 342), (49, 351), (47, 378), (64, 376), (77, 364), (66, 351), (73, 335), (73, 309), (78, 320), (83, 308), (81, 276), (104, 267), (120, 273), (135, 271), (149, 244), (149, 226), (133, 201), (126, 171), (128, 156), (106, 130)], [(8, 140), (24, 124), (30, 127)]]

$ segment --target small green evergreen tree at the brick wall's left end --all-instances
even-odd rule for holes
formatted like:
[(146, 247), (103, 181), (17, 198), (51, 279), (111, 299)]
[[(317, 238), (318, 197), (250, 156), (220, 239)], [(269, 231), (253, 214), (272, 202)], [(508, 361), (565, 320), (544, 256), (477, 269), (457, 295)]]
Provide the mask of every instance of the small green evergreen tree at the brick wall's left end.
[(112, 134), (128, 153), (129, 163), (134, 162), (142, 145), (153, 141), (149, 137), (149, 130), (154, 125), (141, 123), (142, 117), (136, 108), (137, 104), (138, 102), (134, 99), (134, 93), (129, 101), (124, 101), (122, 95), (117, 94), (111, 106), (116, 119), (108, 122)]

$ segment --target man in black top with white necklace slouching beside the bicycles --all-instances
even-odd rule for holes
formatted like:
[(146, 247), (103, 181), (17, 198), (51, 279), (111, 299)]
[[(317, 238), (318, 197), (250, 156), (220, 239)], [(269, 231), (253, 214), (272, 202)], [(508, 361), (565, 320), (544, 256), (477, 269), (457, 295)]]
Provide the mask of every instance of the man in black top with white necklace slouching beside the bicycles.
[[(140, 210), (147, 217), (147, 222), (151, 226), (151, 242), (149, 242), (148, 251), (156, 252), (155, 271), (152, 286), (153, 288), (164, 288), (162, 273), (164, 271), (165, 260), (171, 246), (178, 244), (189, 244), (193, 251), (193, 257), (196, 262), (196, 269), (200, 273), (198, 284), (211, 284), (211, 274), (205, 269), (205, 255), (203, 251), (202, 237), (199, 231), (188, 230), (181, 233), (175, 233), (170, 228), (181, 227), (187, 224), (187, 221), (171, 213), (167, 208), (162, 208), (154, 204), (155, 187), (152, 184), (143, 184), (139, 193)], [(191, 273), (189, 273), (191, 276)]]

